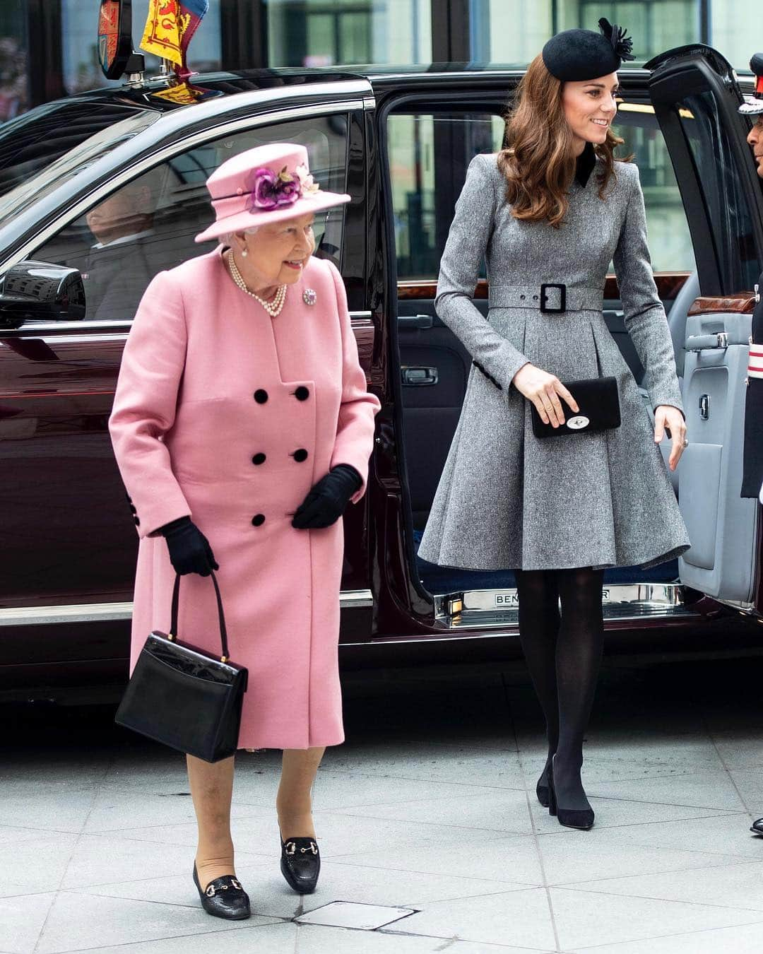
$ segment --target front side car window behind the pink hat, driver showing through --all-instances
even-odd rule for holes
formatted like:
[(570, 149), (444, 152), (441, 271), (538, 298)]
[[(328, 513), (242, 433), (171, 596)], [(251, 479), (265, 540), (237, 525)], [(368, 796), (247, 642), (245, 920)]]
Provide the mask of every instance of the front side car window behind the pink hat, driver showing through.
[[(321, 188), (346, 187), (348, 117), (315, 116), (259, 126), (196, 146), (137, 176), (93, 204), (35, 249), (31, 259), (77, 268), (85, 284), (85, 321), (132, 320), (146, 286), (161, 271), (215, 248), (194, 237), (214, 219), (206, 180), (231, 156), (269, 142), (307, 148)], [(316, 254), (340, 267), (343, 209), (316, 216)]]

